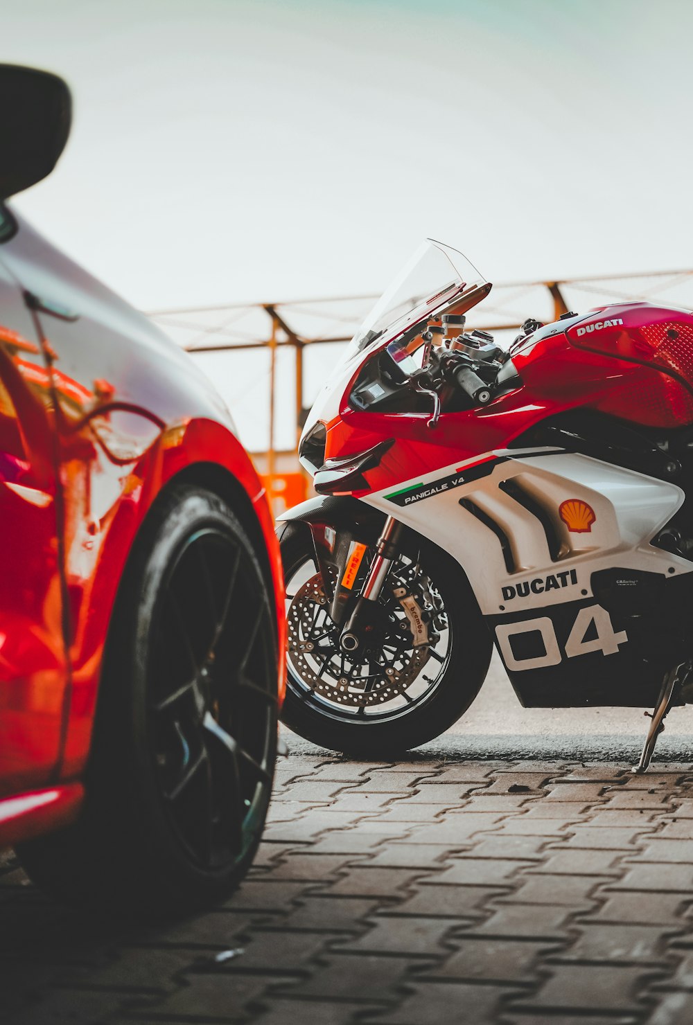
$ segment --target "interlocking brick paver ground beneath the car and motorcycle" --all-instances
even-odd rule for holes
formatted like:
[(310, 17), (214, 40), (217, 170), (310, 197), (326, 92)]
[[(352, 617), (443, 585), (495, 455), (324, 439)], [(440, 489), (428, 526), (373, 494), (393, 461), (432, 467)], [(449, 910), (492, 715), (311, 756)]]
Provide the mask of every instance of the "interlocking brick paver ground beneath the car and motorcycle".
[(6, 1025), (690, 1025), (693, 766), (294, 754), (226, 906), (165, 928), (0, 863)]

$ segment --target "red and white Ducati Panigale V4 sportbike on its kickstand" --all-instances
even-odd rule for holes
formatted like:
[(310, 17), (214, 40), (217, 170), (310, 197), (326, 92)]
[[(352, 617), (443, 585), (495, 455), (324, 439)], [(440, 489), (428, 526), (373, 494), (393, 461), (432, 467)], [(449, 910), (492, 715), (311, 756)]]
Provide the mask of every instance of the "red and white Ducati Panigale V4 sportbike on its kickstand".
[(429, 241), (323, 387), (280, 519), (284, 720), (382, 757), (468, 708), (693, 701), (693, 315), (620, 302), (465, 330), (491, 285)]

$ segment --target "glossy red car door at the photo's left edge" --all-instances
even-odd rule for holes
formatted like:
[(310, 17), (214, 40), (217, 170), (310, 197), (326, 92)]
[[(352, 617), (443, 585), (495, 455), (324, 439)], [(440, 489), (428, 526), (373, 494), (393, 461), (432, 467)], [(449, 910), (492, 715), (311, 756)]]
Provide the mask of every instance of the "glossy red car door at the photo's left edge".
[(52, 778), (66, 710), (47, 384), (31, 315), (0, 265), (0, 798)]

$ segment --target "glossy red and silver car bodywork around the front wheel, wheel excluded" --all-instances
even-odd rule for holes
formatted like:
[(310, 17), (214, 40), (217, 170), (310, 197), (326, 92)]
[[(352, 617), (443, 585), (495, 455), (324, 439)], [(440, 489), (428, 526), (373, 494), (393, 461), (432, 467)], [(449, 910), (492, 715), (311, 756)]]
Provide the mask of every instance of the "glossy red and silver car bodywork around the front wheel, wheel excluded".
[[(12, 799), (82, 774), (122, 571), (176, 475), (213, 473), (236, 495), (267, 552), (285, 644), (272, 515), (221, 400), (144, 317), (17, 221), (0, 246), (0, 798)], [(36, 816), (67, 822), (70, 794)], [(31, 810), (3, 819), (0, 801), (0, 846), (34, 823)]]

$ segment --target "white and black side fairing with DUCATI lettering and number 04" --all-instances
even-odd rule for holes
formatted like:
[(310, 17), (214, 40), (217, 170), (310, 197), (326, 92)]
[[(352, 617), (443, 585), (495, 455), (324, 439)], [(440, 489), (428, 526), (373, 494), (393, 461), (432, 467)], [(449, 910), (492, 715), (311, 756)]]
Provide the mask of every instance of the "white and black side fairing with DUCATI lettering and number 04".
[[(670, 482), (542, 448), (498, 449), (361, 500), (459, 563), (520, 700), (560, 706), (652, 703), (661, 673), (634, 643), (638, 620), (599, 604), (593, 574), (618, 567), (669, 587), (690, 574), (650, 543), (684, 497)], [(567, 502), (592, 522), (571, 529)]]

